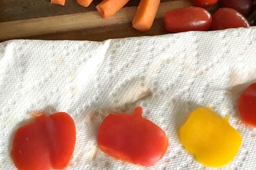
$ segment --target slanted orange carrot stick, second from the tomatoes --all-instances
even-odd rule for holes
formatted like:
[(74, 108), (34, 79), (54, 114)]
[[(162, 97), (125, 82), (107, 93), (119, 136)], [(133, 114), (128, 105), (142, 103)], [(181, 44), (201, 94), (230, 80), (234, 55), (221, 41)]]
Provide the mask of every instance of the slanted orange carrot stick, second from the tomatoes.
[(102, 18), (108, 18), (119, 11), (129, 0), (103, 0), (96, 6)]

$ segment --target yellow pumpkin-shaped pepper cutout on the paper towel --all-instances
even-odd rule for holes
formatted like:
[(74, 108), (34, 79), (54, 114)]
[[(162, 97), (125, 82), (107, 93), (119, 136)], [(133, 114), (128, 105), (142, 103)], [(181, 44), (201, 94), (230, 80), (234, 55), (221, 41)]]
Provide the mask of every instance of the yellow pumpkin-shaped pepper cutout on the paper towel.
[(179, 129), (185, 149), (197, 162), (209, 167), (227, 165), (236, 156), (242, 143), (241, 135), (208, 108), (197, 108)]

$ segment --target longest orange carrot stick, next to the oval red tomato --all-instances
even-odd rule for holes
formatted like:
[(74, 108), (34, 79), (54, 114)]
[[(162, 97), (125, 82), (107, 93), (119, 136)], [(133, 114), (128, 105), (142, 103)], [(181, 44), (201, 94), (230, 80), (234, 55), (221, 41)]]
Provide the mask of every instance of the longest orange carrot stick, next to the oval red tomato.
[(149, 30), (155, 19), (160, 0), (141, 0), (133, 18), (133, 27), (138, 31)]

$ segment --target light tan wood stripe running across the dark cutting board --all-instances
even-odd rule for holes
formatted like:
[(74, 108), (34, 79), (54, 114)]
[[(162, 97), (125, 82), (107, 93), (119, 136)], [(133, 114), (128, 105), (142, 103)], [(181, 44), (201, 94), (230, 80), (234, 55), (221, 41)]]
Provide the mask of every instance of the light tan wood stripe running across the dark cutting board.
[[(156, 18), (163, 18), (169, 10), (188, 7), (189, 0), (170, 1), (160, 3)], [(45, 18), (26, 19), (0, 23), (0, 41), (20, 39), (22, 37), (37, 36), (93, 27), (116, 26), (120, 23), (131, 23), (137, 7), (125, 7), (108, 19), (102, 19), (98, 11), (81, 14), (50, 16)], [(132, 27), (132, 25), (131, 25)], [(120, 30), (122, 31), (122, 30)]]

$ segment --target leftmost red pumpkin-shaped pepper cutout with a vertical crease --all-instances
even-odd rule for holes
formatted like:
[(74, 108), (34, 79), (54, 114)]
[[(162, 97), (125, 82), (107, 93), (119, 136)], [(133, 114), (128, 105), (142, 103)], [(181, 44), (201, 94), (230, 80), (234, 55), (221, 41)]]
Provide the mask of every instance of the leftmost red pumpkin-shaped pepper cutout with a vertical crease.
[(73, 158), (76, 127), (64, 112), (49, 117), (34, 115), (36, 122), (20, 127), (13, 139), (11, 158), (19, 170), (64, 169)]

